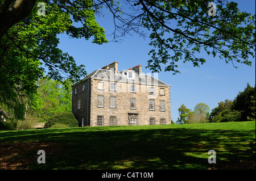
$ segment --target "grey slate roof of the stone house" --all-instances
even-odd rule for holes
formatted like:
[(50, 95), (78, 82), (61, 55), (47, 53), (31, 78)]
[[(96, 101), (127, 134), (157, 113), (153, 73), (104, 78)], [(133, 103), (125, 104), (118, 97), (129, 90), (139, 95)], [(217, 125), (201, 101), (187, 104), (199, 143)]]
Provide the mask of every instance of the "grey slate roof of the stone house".
[[(132, 70), (133, 71), (133, 70)], [(163, 85), (163, 86), (170, 86), (167, 83), (160, 81), (159, 79), (153, 77), (152, 75), (142, 74), (141, 77), (137, 73), (134, 72), (134, 79), (126, 78), (122, 75), (122, 71), (118, 71), (117, 74), (114, 74), (112, 70), (106, 69), (97, 69), (94, 70), (92, 73), (88, 74), (85, 78), (82, 79), (84, 81), (88, 78), (97, 78), (97, 79), (105, 79), (111, 81), (121, 81), (121, 82), (135, 82), (135, 83), (144, 83), (144, 84), (151, 84), (151, 85)]]

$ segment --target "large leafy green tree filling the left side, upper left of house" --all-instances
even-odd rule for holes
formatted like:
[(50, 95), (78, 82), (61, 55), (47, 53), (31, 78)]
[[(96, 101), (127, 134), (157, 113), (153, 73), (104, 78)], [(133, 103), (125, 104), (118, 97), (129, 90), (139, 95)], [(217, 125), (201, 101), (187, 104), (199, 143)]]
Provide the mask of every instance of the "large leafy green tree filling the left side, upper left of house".
[(93, 43), (97, 44), (107, 41), (104, 29), (95, 21), (95, 10), (73, 7), (72, 20), (78, 22), (83, 15), (85, 23), (76, 28), (72, 26), (71, 13), (62, 10), (56, 1), (44, 1), (46, 16), (37, 14), (35, 2), (0, 0), (0, 110), (21, 120), (28, 105), (36, 101), (36, 81), (46, 71), (48, 77), (57, 81), (77, 82), (86, 75), (84, 65), (77, 66), (73, 57), (57, 48), (57, 34), (65, 32), (85, 39), (94, 36)]

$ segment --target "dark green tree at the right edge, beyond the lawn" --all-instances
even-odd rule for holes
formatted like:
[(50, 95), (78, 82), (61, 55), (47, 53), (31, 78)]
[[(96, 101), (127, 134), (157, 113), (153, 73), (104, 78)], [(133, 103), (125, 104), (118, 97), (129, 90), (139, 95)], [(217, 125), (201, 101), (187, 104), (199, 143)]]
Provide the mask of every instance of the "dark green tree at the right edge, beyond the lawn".
[(239, 92), (234, 99), (233, 110), (241, 112), (242, 121), (255, 121), (255, 85), (251, 87), (249, 83), (245, 87), (245, 90)]

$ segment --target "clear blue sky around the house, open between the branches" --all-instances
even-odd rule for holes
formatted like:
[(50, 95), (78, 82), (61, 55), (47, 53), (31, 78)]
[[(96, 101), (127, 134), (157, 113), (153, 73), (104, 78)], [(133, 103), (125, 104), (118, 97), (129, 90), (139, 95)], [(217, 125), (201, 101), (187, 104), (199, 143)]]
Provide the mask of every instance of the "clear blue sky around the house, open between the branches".
[[(255, 1), (236, 1), (241, 11), (255, 14)], [(104, 18), (97, 19), (100, 26), (105, 28), (106, 35), (114, 30), (112, 15), (105, 13)], [(148, 45), (149, 39), (143, 39), (138, 35), (123, 37), (120, 43), (109, 42), (103, 45), (92, 44), (92, 40), (69, 39), (67, 35), (59, 35), (59, 48), (63, 52), (75, 58), (77, 65), (84, 64), (87, 73), (102, 68), (114, 61), (118, 62), (118, 70), (142, 65), (143, 73), (151, 71), (145, 69), (150, 60), (148, 52), (152, 49)], [(112, 40), (112, 37), (107, 36)], [(181, 104), (193, 110), (197, 103), (205, 103), (212, 110), (218, 106), (218, 102), (225, 99), (233, 100), (239, 91), (243, 91), (247, 85), (255, 85), (255, 58), (250, 58), (252, 66), (236, 63), (226, 64), (217, 56), (213, 58), (202, 51), (201, 56), (207, 60), (200, 68), (193, 67), (191, 62), (179, 63), (180, 74), (172, 75), (171, 72), (160, 72), (158, 78), (171, 85), (171, 117), (177, 121), (178, 108)]]

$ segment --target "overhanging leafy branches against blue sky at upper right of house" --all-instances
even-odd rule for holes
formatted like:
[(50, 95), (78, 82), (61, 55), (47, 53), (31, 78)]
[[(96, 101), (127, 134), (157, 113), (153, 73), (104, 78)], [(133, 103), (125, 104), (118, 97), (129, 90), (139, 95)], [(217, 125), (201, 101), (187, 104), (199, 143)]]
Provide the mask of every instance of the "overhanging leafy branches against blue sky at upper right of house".
[[(216, 16), (210, 16), (209, 2), (204, 0), (125, 2), (134, 14), (105, 3), (114, 14), (114, 35), (137, 32), (143, 36), (140, 30), (146, 27), (150, 31), (149, 45), (153, 47), (147, 68), (152, 71), (159, 72), (164, 65), (164, 71), (179, 73), (178, 61), (191, 61), (193, 66), (204, 64), (204, 57), (195, 56), (202, 50), (226, 63), (232, 62), (235, 67), (236, 62), (251, 65), (248, 57), (255, 56), (255, 15), (240, 12), (237, 3), (213, 1)], [(120, 24), (116, 23), (118, 20)]]

